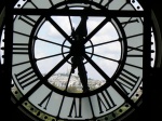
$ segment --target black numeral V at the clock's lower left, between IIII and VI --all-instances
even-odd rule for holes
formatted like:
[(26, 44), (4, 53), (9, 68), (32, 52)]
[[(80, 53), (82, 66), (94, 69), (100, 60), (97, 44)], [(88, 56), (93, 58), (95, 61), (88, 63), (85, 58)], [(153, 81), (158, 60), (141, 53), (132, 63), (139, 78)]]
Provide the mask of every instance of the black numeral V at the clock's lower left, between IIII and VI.
[(42, 107), (42, 105), (44, 105), (44, 109), (46, 110), (46, 107), (49, 105), (49, 100), (51, 99), (52, 96), (52, 91), (43, 98), (43, 100), (38, 104), (40, 107)]

